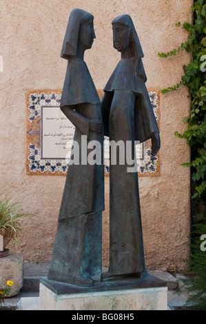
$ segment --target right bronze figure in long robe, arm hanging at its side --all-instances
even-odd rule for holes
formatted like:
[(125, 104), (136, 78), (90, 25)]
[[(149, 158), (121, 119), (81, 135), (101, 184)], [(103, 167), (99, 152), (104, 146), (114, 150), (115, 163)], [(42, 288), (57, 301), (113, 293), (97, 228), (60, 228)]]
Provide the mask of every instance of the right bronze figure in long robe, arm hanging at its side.
[[(112, 21), (114, 48), (121, 52), (121, 61), (105, 85), (101, 108), (105, 136), (110, 141), (129, 141), (132, 159), (135, 141), (152, 139), (152, 155), (160, 148), (160, 138), (150, 98), (145, 87), (143, 50), (134, 24), (124, 14)], [(126, 145), (125, 145), (126, 147)], [(116, 164), (112, 157), (116, 154)], [(147, 276), (143, 250), (141, 208), (137, 172), (128, 172), (131, 165), (119, 161), (119, 150), (110, 146), (110, 267), (102, 280), (125, 275)]]

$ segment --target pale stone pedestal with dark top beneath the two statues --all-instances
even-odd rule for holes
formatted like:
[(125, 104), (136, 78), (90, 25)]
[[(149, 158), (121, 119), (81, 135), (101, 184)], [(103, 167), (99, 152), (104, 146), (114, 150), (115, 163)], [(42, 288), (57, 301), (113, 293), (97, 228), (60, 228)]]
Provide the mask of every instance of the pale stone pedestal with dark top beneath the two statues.
[(40, 310), (167, 310), (167, 285), (154, 276), (92, 287), (41, 278)]

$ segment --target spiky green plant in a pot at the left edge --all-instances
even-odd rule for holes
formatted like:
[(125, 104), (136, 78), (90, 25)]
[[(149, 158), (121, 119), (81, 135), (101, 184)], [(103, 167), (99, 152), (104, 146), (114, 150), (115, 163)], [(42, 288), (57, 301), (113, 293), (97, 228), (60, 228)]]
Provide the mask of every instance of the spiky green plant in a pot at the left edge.
[(32, 214), (22, 214), (22, 208), (14, 199), (0, 200), (0, 257), (7, 256), (9, 249), (6, 246), (11, 239), (17, 238), (19, 232), (19, 217), (34, 216)]

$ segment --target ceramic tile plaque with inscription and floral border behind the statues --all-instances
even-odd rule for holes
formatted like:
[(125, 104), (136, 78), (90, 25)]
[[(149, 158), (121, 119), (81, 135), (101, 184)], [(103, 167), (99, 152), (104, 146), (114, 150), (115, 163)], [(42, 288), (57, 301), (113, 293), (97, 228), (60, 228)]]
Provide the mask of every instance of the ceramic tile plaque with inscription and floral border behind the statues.
[[(160, 92), (148, 90), (159, 127)], [(102, 99), (103, 90), (98, 90)], [(72, 148), (74, 125), (60, 110), (60, 90), (27, 92), (26, 172), (30, 175), (65, 175), (69, 172), (68, 153)], [(105, 137), (105, 175), (110, 174), (109, 139)], [(136, 145), (137, 171), (140, 176), (159, 176), (159, 153), (151, 156), (151, 140)]]

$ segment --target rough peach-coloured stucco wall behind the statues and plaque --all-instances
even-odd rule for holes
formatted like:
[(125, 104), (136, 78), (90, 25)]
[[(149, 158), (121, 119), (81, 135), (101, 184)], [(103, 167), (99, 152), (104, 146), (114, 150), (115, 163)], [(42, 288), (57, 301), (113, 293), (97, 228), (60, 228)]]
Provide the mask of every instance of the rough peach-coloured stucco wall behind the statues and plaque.
[[(147, 88), (165, 88), (180, 81), (189, 54), (160, 59), (187, 39), (175, 23), (191, 21), (192, 0), (1, 0), (0, 72), (1, 94), (1, 194), (16, 196), (34, 221), (21, 220), (19, 245), (28, 260), (50, 261), (56, 221), (65, 183), (64, 176), (25, 174), (26, 92), (62, 89), (67, 62), (60, 58), (68, 17), (73, 8), (94, 15), (96, 39), (85, 61), (97, 89), (103, 89), (120, 59), (112, 44), (111, 21), (130, 14), (145, 57)], [(161, 176), (140, 177), (141, 212), (145, 261), (150, 269), (182, 270), (189, 234), (189, 148), (174, 132), (183, 132), (189, 110), (187, 88), (161, 94)], [(108, 264), (109, 183), (105, 180), (103, 213), (103, 264)], [(12, 249), (12, 244), (10, 244)]]

